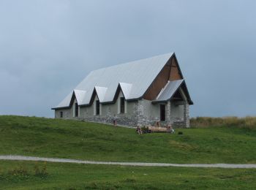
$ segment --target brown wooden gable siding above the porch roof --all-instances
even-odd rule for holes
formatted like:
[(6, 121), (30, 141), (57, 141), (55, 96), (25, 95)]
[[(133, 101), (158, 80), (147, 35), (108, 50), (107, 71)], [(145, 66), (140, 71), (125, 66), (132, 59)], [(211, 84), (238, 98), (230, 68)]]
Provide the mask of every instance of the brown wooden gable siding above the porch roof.
[(176, 56), (167, 61), (165, 66), (162, 68), (159, 75), (154, 79), (151, 86), (147, 89), (146, 93), (143, 96), (143, 99), (153, 100), (157, 98), (157, 95), (165, 87), (168, 80), (179, 80), (183, 79), (181, 71), (178, 67), (178, 61), (176, 60)]

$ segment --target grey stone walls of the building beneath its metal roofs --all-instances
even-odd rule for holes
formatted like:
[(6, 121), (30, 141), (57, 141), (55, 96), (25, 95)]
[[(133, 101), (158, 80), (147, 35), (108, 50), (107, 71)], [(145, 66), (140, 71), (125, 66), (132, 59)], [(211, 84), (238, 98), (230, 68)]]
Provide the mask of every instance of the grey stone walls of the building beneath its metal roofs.
[[(93, 115), (93, 106), (80, 107), (78, 118), (73, 117), (73, 107), (70, 109), (56, 110), (55, 117), (79, 119), (82, 121), (94, 121), (100, 123), (113, 123), (116, 115), (117, 123), (125, 126), (154, 126), (160, 120), (159, 104), (152, 104), (146, 99), (139, 99), (135, 102), (127, 102), (127, 113), (116, 113), (115, 104), (102, 104), (102, 115)], [(182, 110), (182, 112), (181, 112)], [(162, 126), (171, 124), (173, 127), (189, 127), (189, 104), (173, 105), (168, 101), (165, 104), (165, 121), (161, 121)]]

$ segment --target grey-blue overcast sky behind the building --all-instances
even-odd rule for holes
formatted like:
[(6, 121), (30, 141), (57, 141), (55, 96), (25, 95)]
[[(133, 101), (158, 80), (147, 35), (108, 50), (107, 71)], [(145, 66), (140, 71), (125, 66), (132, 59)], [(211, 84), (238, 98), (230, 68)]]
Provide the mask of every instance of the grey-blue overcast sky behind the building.
[(0, 115), (53, 117), (93, 69), (175, 52), (191, 115), (256, 115), (256, 1), (0, 1)]

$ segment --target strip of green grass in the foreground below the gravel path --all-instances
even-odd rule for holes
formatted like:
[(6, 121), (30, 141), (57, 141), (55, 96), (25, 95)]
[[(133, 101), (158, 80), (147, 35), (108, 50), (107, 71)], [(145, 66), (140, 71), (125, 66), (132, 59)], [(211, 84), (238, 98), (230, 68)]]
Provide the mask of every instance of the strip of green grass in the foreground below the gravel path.
[[(43, 162), (0, 161), (0, 189), (255, 189), (255, 169), (122, 167), (47, 163), (47, 176), (34, 175)], [(11, 174), (23, 167), (26, 174)]]

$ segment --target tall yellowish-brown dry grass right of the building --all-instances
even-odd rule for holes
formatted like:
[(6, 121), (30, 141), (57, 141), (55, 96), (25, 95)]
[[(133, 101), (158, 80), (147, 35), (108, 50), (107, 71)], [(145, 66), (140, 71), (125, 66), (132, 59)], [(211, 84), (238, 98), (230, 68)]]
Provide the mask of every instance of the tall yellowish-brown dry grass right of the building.
[(197, 117), (190, 119), (190, 124), (195, 128), (206, 128), (209, 126), (230, 126), (244, 129), (256, 129), (256, 117), (224, 117), (224, 118), (211, 118), (211, 117)]

